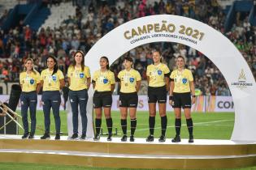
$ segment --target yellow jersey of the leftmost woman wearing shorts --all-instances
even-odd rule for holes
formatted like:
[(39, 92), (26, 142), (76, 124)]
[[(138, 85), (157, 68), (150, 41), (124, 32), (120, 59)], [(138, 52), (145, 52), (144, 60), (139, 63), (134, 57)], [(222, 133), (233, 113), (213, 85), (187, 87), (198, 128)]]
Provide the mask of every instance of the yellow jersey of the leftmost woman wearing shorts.
[(97, 70), (93, 74), (93, 82), (94, 91), (111, 91), (111, 84), (115, 84), (115, 74), (111, 70)]

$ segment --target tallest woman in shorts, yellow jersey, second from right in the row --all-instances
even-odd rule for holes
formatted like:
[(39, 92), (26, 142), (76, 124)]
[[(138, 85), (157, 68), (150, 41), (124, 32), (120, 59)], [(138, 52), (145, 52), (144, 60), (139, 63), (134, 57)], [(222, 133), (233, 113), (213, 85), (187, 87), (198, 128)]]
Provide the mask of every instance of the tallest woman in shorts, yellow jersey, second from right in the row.
[(148, 103), (150, 110), (149, 126), (150, 135), (146, 138), (147, 142), (154, 141), (154, 124), (156, 115), (156, 103), (158, 102), (159, 114), (161, 117), (162, 134), (159, 142), (165, 142), (165, 133), (167, 129), (167, 90), (169, 90), (170, 70), (167, 65), (162, 63), (160, 51), (153, 52), (154, 64), (147, 66), (146, 77), (149, 83), (148, 87)]

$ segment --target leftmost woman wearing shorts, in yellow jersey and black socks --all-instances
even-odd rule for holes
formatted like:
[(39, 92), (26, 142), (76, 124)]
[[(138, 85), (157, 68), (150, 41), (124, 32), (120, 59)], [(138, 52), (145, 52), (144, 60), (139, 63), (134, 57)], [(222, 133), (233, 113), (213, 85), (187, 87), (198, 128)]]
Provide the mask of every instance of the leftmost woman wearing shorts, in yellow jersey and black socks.
[(100, 59), (101, 69), (97, 70), (93, 74), (93, 107), (95, 109), (95, 129), (96, 134), (95, 141), (100, 138), (100, 130), (102, 126), (102, 108), (106, 118), (106, 126), (108, 130), (107, 141), (111, 141), (112, 137), (112, 117), (111, 117), (111, 105), (112, 105), (112, 93), (115, 89), (115, 74), (109, 70), (109, 62), (107, 57), (101, 57)]

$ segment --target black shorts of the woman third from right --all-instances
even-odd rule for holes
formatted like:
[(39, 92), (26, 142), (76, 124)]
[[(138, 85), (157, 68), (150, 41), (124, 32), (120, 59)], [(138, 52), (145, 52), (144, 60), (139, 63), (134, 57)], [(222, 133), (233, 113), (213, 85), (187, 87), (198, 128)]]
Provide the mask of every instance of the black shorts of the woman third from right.
[(137, 108), (138, 95), (137, 92), (119, 94), (119, 107)]

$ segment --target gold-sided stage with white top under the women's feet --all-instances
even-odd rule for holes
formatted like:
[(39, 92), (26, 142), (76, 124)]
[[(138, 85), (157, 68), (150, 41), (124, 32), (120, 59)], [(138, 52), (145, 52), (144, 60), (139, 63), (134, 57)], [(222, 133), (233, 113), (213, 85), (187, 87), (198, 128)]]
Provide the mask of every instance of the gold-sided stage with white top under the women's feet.
[(241, 168), (256, 165), (256, 142), (195, 139), (189, 143), (121, 142), (102, 137), (94, 142), (68, 140), (67, 136), (55, 141), (21, 139), (20, 135), (0, 135), (0, 162), (66, 164), (105, 168)]

